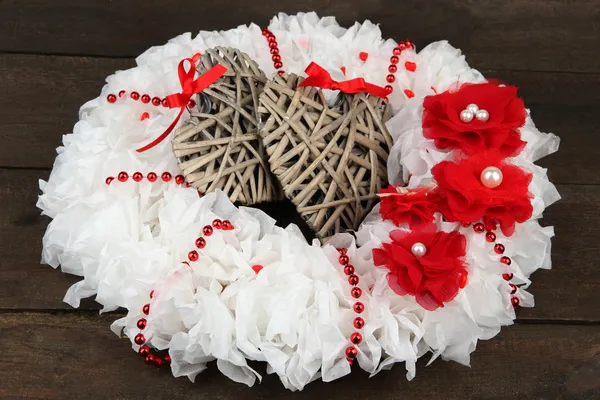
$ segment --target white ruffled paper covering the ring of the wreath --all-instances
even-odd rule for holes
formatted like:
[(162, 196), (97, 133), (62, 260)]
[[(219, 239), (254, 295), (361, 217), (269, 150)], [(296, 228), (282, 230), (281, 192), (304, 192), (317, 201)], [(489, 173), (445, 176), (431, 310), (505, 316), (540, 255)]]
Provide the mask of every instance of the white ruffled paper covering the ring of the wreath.
[[(302, 74), (315, 61), (336, 80), (364, 77), (387, 84), (396, 43), (382, 39), (379, 27), (369, 21), (346, 29), (315, 13), (279, 14), (268, 28), (277, 37), (286, 72)], [(195, 190), (160, 178), (106, 185), (106, 177), (120, 171), (178, 173), (168, 140), (151, 151), (135, 151), (162, 132), (177, 110), (120, 98), (110, 104), (107, 94), (135, 90), (162, 98), (178, 92), (179, 61), (213, 46), (237, 47), (268, 77), (276, 73), (257, 25), (201, 31), (194, 38), (183, 34), (140, 55), (137, 67), (109, 76), (99, 97), (82, 106), (73, 133), (63, 137), (48, 182), (40, 181), (38, 207), (53, 218), (42, 261), (82, 277), (64, 300), (77, 307), (82, 298), (96, 296), (103, 312), (126, 308), (128, 315), (112, 329), (132, 341), (141, 309), (150, 302), (144, 334), (153, 347), (169, 350), (175, 376), (193, 380), (216, 360), (223, 374), (252, 385), (260, 376), (247, 360), (256, 360), (266, 362), (267, 372), (277, 374), (285, 387), (301, 390), (315, 379), (331, 381), (350, 373), (344, 352), (354, 331), (355, 300), (335, 250), (348, 247), (365, 304), (363, 341), (357, 346), (362, 369), (375, 374), (403, 362), (412, 379), (417, 359), (428, 352), (432, 360), (441, 356), (468, 364), (478, 340), (493, 337), (515, 318), (510, 288), (501, 277), (506, 266), (472, 229), (460, 228), (469, 239), (469, 284), (445, 307), (425, 311), (410, 296), (396, 295), (384, 271), (373, 266), (371, 250), (389, 240), (394, 229), (376, 210), (357, 234), (359, 247), (347, 234), (321, 247), (307, 243), (295, 226), (284, 229), (261, 211), (234, 207), (222, 193), (200, 198)], [(368, 53), (366, 61), (360, 52)], [(414, 72), (404, 67), (407, 61), (416, 64)], [(398, 66), (390, 95), (396, 115), (388, 124), (395, 143), (388, 172), (391, 183), (416, 187), (429, 183), (431, 167), (450, 157), (422, 136), (422, 99), (457, 81), (484, 78), (447, 42), (418, 53), (404, 51)], [(144, 112), (150, 118), (141, 121)], [(558, 138), (539, 132), (530, 118), (522, 136), (527, 147), (513, 162), (534, 174), (534, 219), (499, 240), (513, 260), (513, 281), (524, 285), (518, 291), (521, 305), (532, 306), (526, 288), (536, 269), (550, 268), (553, 236), (552, 228), (542, 228), (535, 218), (559, 198), (546, 171), (533, 162), (556, 151)], [(200, 259), (183, 264), (202, 227), (215, 218), (229, 219), (235, 230), (215, 230)], [(264, 268), (256, 274), (253, 265)], [(155, 296), (149, 300), (151, 290)]]

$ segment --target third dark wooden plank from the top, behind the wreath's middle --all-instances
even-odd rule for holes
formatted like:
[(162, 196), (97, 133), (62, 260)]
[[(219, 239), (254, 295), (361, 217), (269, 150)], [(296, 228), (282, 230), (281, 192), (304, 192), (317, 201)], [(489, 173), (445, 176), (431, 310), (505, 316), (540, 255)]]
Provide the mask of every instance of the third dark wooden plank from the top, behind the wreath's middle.
[[(49, 219), (35, 208), (37, 180), (47, 172), (0, 169), (0, 309), (69, 308), (61, 302), (67, 288), (79, 280), (39, 265), (41, 238)], [(554, 268), (538, 271), (531, 291), (537, 306), (521, 309), (525, 319), (600, 321), (597, 255), (600, 252), (600, 186), (561, 185), (563, 200), (547, 212), (544, 224), (556, 226)], [(280, 225), (297, 222), (287, 206), (264, 207)], [(295, 218), (295, 219), (294, 219)], [(88, 301), (83, 309), (95, 309)]]

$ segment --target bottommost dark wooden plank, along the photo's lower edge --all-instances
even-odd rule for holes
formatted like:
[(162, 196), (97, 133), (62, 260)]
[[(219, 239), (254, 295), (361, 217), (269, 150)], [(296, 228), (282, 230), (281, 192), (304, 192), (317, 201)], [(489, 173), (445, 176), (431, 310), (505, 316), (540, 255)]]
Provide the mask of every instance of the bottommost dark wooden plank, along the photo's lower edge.
[[(144, 365), (108, 329), (115, 317), (0, 314), (0, 397), (4, 399), (288, 399), (274, 375), (248, 388), (214, 364), (196, 378), (173, 378)], [(408, 382), (402, 365), (369, 379), (355, 368), (333, 383), (316, 381), (295, 399), (598, 399), (600, 327), (517, 325), (480, 342), (472, 367), (441, 359)], [(258, 369), (264, 372), (263, 365)], [(401, 394), (401, 395), (400, 395)]]

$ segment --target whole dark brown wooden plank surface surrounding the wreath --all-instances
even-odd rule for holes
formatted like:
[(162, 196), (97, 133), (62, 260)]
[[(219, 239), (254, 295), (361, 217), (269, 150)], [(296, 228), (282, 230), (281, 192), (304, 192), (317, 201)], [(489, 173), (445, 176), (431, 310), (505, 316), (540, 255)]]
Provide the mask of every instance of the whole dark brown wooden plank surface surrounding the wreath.
[[(195, 384), (145, 366), (86, 301), (63, 304), (78, 279), (39, 265), (49, 220), (35, 208), (61, 135), (104, 78), (179, 33), (265, 25), (315, 10), (341, 24), (371, 19), (418, 47), (448, 39), (472, 66), (521, 87), (539, 128), (562, 139), (544, 159), (563, 200), (552, 271), (536, 307), (481, 342), (472, 367), (420, 363), (369, 379), (354, 371), (292, 395), (274, 376), (247, 388), (215, 368)], [(600, 1), (598, 0), (0, 0), (1, 399), (600, 399)]]

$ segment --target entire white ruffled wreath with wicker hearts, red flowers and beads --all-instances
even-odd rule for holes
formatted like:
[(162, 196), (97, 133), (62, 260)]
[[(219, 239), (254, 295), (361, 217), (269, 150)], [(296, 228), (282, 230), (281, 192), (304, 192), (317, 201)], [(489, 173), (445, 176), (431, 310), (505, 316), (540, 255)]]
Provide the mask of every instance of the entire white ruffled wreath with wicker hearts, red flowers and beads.
[[(137, 63), (81, 108), (38, 206), (43, 262), (83, 277), (64, 300), (127, 309), (112, 330), (149, 364), (194, 380), (216, 360), (251, 386), (264, 361), (291, 390), (353, 364), (412, 379), (533, 306), (559, 199), (534, 161), (559, 139), (447, 42), (280, 14)], [(319, 239), (252, 207), (283, 196)]]

